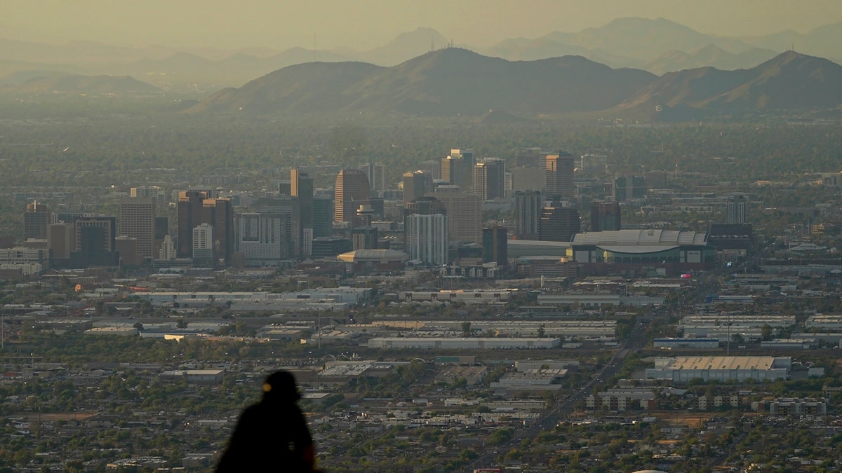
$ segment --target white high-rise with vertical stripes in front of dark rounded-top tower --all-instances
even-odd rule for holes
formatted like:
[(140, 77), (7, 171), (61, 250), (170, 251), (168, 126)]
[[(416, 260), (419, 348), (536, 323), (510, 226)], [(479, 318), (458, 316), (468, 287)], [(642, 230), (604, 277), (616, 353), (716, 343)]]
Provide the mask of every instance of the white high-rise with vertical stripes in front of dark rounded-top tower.
[(404, 218), (404, 251), (410, 260), (434, 266), (447, 263), (447, 215), (407, 215)]

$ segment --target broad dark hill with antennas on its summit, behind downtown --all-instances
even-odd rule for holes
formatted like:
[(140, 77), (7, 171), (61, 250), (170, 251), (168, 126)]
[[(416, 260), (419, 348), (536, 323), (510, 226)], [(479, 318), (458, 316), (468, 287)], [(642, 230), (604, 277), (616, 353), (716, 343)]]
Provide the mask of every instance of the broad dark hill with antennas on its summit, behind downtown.
[(310, 63), (216, 93), (191, 111), (536, 116), (608, 109), (657, 77), (580, 56), (505, 61), (446, 48), (392, 67)]

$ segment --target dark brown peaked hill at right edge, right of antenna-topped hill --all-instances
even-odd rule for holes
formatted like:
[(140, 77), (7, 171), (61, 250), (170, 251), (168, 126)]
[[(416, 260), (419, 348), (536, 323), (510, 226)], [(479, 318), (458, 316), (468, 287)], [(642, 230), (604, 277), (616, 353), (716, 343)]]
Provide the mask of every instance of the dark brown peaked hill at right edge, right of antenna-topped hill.
[(655, 117), (681, 110), (739, 114), (776, 109), (832, 109), (842, 104), (842, 66), (787, 51), (751, 69), (702, 67), (669, 72), (643, 88), (617, 113)]

